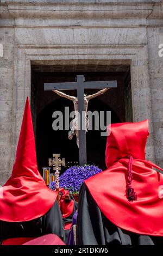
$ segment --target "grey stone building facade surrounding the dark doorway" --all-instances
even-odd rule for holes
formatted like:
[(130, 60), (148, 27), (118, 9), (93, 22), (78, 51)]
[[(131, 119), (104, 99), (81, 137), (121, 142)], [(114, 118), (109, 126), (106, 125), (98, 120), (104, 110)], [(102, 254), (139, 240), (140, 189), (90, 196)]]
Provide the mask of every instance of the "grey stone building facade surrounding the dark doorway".
[(0, 1), (0, 184), (15, 158), (32, 65), (129, 65), (133, 121), (163, 167), (163, 1)]

